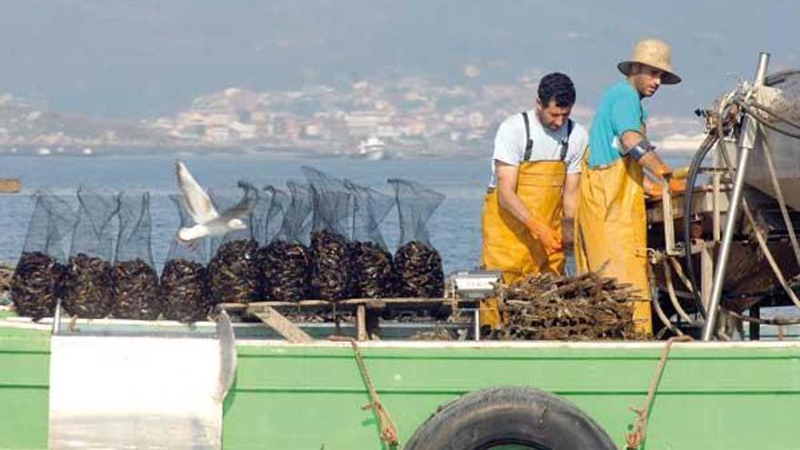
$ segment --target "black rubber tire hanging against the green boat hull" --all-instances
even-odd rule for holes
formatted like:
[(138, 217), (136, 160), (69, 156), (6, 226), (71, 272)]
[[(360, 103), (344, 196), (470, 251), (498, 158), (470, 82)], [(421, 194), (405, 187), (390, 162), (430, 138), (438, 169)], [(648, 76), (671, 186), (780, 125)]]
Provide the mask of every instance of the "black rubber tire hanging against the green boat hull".
[(528, 387), (464, 395), (420, 426), (405, 450), (617, 450), (603, 428), (564, 398)]

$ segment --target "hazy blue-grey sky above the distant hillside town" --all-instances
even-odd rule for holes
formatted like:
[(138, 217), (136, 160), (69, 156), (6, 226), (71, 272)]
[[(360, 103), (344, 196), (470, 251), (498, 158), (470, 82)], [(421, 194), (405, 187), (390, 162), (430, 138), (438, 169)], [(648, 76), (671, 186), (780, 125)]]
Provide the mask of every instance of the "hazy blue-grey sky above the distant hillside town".
[(650, 102), (688, 115), (772, 69), (800, 68), (800, 2), (471, 0), (5, 0), (0, 92), (88, 115), (172, 115), (232, 85), (283, 89), (353, 75), (512, 81), (571, 75), (593, 106), (635, 41), (661, 37), (685, 82)]

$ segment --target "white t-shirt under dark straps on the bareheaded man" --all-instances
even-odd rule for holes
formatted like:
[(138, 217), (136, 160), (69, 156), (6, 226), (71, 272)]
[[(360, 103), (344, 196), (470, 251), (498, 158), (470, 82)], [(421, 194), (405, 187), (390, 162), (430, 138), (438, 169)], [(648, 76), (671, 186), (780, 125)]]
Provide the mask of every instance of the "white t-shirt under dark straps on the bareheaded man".
[[(561, 143), (566, 137), (567, 125), (558, 130), (545, 128), (536, 111), (528, 111), (528, 123), (531, 127), (531, 157), (528, 161), (559, 161), (561, 159)], [(525, 159), (525, 121), (522, 114), (515, 114), (503, 121), (495, 135), (495, 153), (492, 155), (492, 181), (489, 187), (497, 183), (495, 175), (495, 160), (508, 165), (520, 165)], [(584, 158), (586, 146), (589, 145), (589, 135), (583, 125), (573, 121), (572, 134), (569, 135), (569, 145), (566, 150), (564, 163), (567, 174), (579, 174), (581, 161)]]

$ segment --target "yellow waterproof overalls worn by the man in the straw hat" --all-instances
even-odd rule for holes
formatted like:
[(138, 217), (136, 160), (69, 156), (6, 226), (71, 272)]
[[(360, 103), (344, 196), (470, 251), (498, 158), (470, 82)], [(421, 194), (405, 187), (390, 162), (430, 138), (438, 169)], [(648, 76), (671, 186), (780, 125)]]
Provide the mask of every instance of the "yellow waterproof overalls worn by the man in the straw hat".
[(575, 216), (575, 263), (580, 273), (614, 276), (639, 291), (634, 303), (635, 329), (652, 334), (650, 283), (647, 277), (645, 174), (629, 157), (611, 165), (581, 170)]

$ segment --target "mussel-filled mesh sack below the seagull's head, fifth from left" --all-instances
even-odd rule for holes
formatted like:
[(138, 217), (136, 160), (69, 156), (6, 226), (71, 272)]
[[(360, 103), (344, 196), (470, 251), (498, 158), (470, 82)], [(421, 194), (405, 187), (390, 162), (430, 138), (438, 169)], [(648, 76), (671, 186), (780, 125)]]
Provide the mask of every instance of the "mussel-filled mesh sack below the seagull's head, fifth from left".
[[(238, 211), (246, 228), (235, 229), (222, 237), (213, 237), (214, 256), (208, 262), (208, 289), (214, 304), (250, 303), (259, 300), (261, 293), (261, 262), (258, 243), (252, 235), (252, 212), (258, 202), (254, 186), (239, 182), (245, 194), (238, 199), (233, 195), (212, 194), (217, 211), (228, 215)], [(242, 215), (242, 214), (245, 215)]]

